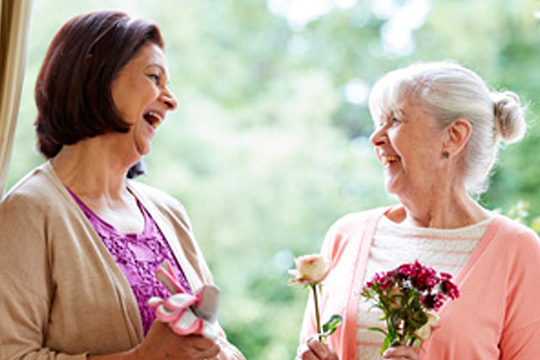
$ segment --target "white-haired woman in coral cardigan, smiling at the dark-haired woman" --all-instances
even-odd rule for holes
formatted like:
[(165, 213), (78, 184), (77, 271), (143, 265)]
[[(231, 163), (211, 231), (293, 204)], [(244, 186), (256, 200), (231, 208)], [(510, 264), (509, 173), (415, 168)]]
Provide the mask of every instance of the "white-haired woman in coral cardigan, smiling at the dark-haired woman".
[[(491, 92), (451, 62), (414, 64), (380, 79), (370, 96), (371, 143), (385, 188), (399, 204), (348, 214), (329, 230), (331, 263), (323, 321), (342, 326), (319, 342), (312, 304), (297, 359), (540, 359), (540, 241), (527, 227), (483, 208), (501, 142), (523, 138), (519, 97)], [(416, 347), (380, 349), (381, 313), (359, 293), (375, 273), (413, 262), (453, 275), (461, 296), (438, 313), (439, 326)]]

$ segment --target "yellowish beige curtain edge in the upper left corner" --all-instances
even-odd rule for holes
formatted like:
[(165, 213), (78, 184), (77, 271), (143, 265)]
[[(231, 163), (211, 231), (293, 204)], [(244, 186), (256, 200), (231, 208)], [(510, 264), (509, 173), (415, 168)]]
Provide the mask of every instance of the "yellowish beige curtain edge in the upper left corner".
[(6, 188), (19, 111), (31, 3), (0, 2), (0, 197)]

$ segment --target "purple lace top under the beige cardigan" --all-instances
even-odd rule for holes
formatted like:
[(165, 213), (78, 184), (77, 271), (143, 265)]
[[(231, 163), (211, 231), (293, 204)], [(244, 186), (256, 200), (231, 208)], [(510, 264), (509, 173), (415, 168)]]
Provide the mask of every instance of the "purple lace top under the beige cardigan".
[(146, 335), (156, 319), (155, 310), (148, 305), (152, 296), (166, 299), (169, 291), (155, 277), (155, 271), (163, 260), (169, 260), (180, 284), (191, 293), (191, 289), (165, 237), (144, 206), (137, 201), (144, 216), (144, 230), (139, 234), (123, 234), (114, 226), (102, 220), (77, 195), (68, 189), (84, 212), (99, 237), (120, 267), (133, 294), (141, 315), (143, 331)]

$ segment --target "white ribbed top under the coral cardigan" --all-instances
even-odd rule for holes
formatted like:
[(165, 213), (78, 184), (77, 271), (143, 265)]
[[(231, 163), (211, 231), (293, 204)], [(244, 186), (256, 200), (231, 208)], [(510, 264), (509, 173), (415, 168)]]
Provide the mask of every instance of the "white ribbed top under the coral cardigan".
[[(364, 283), (375, 273), (388, 271), (403, 263), (420, 261), (438, 272), (456, 276), (484, 235), (491, 218), (458, 229), (434, 229), (396, 224), (386, 216), (377, 224), (367, 261)], [(368, 331), (369, 327), (384, 327), (382, 313), (370, 310), (360, 300), (358, 312), (358, 360), (380, 360), (384, 335)]]

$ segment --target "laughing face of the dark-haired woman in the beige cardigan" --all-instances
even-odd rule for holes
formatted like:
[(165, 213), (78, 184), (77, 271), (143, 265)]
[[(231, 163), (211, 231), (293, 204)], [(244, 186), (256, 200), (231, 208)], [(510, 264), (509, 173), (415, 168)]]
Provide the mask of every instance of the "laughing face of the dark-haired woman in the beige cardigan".
[(143, 45), (119, 71), (112, 83), (112, 97), (120, 116), (132, 126), (128, 133), (118, 133), (118, 149), (139, 158), (150, 151), (155, 130), (165, 120), (167, 111), (177, 105), (167, 88), (168, 81), (165, 55), (151, 42)]

